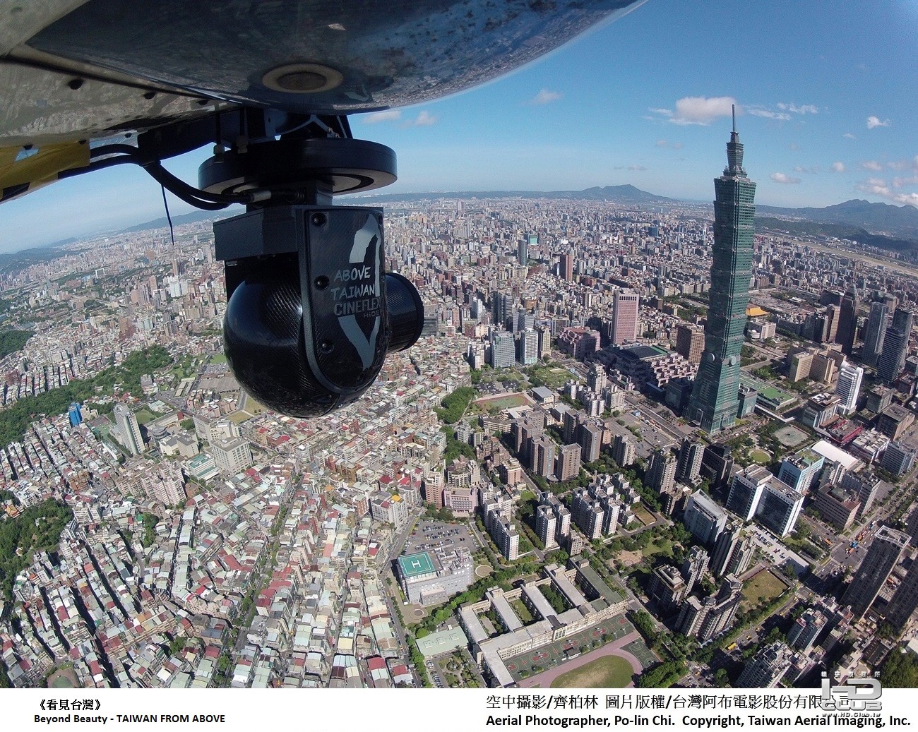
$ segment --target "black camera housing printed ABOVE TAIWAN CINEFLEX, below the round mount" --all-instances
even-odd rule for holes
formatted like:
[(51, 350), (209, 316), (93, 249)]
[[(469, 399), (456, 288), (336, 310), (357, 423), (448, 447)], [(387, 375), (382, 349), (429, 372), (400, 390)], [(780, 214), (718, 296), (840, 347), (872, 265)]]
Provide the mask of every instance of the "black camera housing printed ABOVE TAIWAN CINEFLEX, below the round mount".
[(380, 209), (272, 206), (214, 232), (226, 264), (227, 360), (274, 411), (321, 416), (353, 402), (386, 353), (420, 337), (420, 295), (384, 272)]

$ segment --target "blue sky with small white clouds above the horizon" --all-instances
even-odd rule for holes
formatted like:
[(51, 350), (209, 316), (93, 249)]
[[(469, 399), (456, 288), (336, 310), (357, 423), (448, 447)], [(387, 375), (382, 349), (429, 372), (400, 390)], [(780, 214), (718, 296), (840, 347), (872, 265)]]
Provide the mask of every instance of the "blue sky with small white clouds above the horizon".
[[(916, 59), (918, 0), (648, 0), (509, 77), (352, 128), (396, 150), (387, 192), (632, 183), (708, 201), (735, 103), (757, 203), (918, 205)], [(205, 157), (167, 167), (195, 182)], [(121, 166), (0, 205), (0, 250), (158, 216), (159, 186)]]

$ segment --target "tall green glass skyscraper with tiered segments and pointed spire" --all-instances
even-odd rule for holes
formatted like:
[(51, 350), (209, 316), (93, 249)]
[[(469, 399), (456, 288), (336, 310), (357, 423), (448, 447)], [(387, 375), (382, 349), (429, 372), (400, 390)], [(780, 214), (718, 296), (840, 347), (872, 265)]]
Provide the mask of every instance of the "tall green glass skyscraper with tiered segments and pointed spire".
[(732, 427), (739, 409), (740, 350), (752, 277), (756, 183), (743, 169), (743, 144), (733, 132), (727, 167), (714, 179), (714, 246), (704, 352), (692, 386), (687, 416), (708, 433)]

